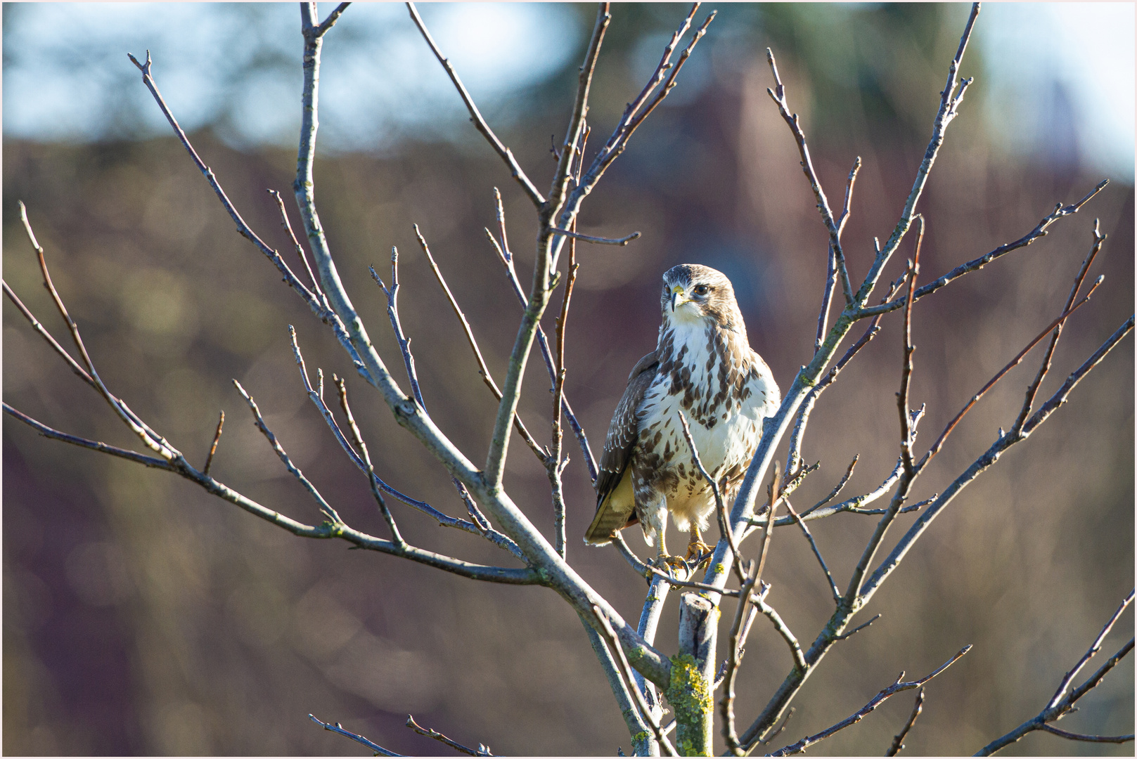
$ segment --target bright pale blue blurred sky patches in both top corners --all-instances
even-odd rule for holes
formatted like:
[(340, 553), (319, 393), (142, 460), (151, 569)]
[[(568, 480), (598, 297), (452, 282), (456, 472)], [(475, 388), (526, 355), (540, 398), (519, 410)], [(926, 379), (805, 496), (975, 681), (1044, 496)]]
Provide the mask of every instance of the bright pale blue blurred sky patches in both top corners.
[[(319, 12), (332, 8), (321, 3)], [(236, 147), (296, 140), (294, 3), (8, 3), (3, 11), (6, 137), (165, 133), (125, 55), (150, 49), (186, 130), (224, 111), (218, 131)], [(424, 3), (421, 12), (483, 106), (559, 70), (587, 32), (557, 3)], [(341, 44), (325, 45), (322, 144), (383, 149), (407, 135), (447, 139), (464, 125), (460, 101), (401, 3), (356, 3), (333, 34)], [(973, 43), (990, 81), (977, 90), (994, 106), (1001, 145), (1045, 153), (1056, 131), (1072, 130), (1076, 160), (1132, 182), (1134, 37), (1134, 3), (985, 3)]]

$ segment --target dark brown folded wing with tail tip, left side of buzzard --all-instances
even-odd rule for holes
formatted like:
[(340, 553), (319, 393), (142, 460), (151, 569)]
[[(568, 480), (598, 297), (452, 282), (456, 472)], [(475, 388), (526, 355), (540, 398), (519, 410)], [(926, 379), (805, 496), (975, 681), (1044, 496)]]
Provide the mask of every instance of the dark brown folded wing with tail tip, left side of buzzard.
[(636, 447), (639, 419), (636, 411), (644, 401), (647, 389), (655, 380), (659, 360), (652, 351), (632, 368), (624, 395), (612, 415), (608, 436), (604, 441), (600, 470), (596, 476), (596, 517), (584, 533), (584, 541), (603, 545), (619, 529), (636, 522), (636, 502), (631, 489), (628, 462)]

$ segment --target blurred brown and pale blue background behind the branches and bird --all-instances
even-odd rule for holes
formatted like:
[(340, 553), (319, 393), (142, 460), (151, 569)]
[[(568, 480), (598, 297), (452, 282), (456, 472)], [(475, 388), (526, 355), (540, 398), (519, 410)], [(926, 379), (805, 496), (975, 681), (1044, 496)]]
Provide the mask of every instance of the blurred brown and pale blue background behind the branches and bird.
[[(321, 5), (326, 15), (332, 5)], [(705, 6), (697, 22), (715, 8)], [(591, 151), (658, 61), (686, 6), (616, 5), (592, 94)], [(724, 5), (671, 97), (586, 202), (581, 231), (642, 239), (578, 251), (566, 393), (599, 450), (632, 364), (655, 344), (658, 276), (691, 261), (736, 285), (750, 342), (787, 387), (812, 356), (825, 269), (824, 228), (796, 148), (765, 94), (771, 47), (821, 181), (839, 206), (864, 167), (844, 241), (864, 275), (891, 232), (927, 145), (964, 5)], [(551, 178), (576, 66), (595, 19), (582, 5), (429, 5), (422, 14), (488, 122), (539, 187)], [(3, 6), (3, 276), (64, 342), (19, 224), (23, 200), (52, 275), (105, 382), (201, 464), (217, 412), (213, 474), (297, 519), (318, 514), (254, 427), (238, 378), (293, 460), (354, 526), (385, 536), (366, 479), (302, 393), (285, 325), (309, 366), (348, 377), (376, 469), (462, 515), (445, 470), (351, 370), (327, 330), (233, 233), (216, 198), (139, 81), (126, 52), (155, 59), (167, 102), (246, 220), (290, 243), (265, 189), (289, 197), (299, 124), (299, 18), (283, 5)], [(1134, 306), (1134, 9), (989, 5), (961, 69), (974, 76), (923, 198), (921, 280), (1015, 240), (1057, 202), (1110, 186), (1051, 234), (920, 301), (912, 400), (927, 403), (922, 452), (970, 395), (1061, 312), (1089, 250), (1105, 282), (1068, 324), (1040, 399)], [(406, 9), (357, 5), (325, 37), (316, 182), (339, 269), (400, 381), (385, 301), (366, 273), (402, 251), (402, 324), (440, 427), (484, 456), (496, 404), (415, 244), (417, 223), (471, 317), (499, 382), (520, 308), (484, 240), (492, 187), (529, 282), (532, 206), (466, 120)], [(292, 224), (299, 219), (289, 203)], [(886, 270), (895, 278), (907, 241)], [(291, 260), (291, 259), (290, 259)], [(897, 457), (899, 316), (822, 397), (804, 454), (821, 461), (795, 498), (823, 498), (854, 453), (845, 495), (872, 490)], [(547, 319), (551, 332), (553, 318)], [(860, 331), (854, 330), (854, 335)], [(1031, 353), (956, 429), (914, 497), (941, 490), (1013, 424)], [(837, 645), (795, 701), (785, 742), (861, 708), (896, 673), (928, 686), (913, 754), (970, 753), (1032, 717), (1134, 584), (1134, 352), (1115, 351), (1031, 439), (933, 523), (863, 612), (882, 618)], [(522, 417), (548, 435), (548, 378), (530, 362)], [(3, 307), (8, 403), (67, 432), (132, 445), (128, 431)], [(595, 497), (575, 443), (568, 559), (629, 619), (645, 586), (613, 549), (579, 536)], [(507, 486), (551, 536), (543, 469), (512, 447)], [(393, 504), (423, 548), (514, 566), (505, 553)], [(890, 541), (913, 515), (901, 518)], [(813, 533), (840, 584), (874, 527), (838, 515)], [(309, 712), (407, 753), (442, 748), (407, 712), (497, 753), (613, 754), (629, 737), (580, 623), (554, 593), (465, 581), (391, 557), (302, 541), (188, 482), (49, 441), (3, 422), (3, 745), (28, 754), (358, 754)], [(648, 549), (637, 531), (630, 544)], [(681, 540), (672, 537), (672, 541)], [(808, 543), (779, 531), (770, 601), (812, 641), (831, 611)], [(728, 618), (732, 607), (728, 604)], [(657, 639), (674, 651), (674, 601)], [(1128, 611), (1105, 654), (1132, 634)], [(1096, 666), (1096, 662), (1095, 662)], [(737, 714), (748, 725), (789, 670), (758, 620)], [(912, 707), (891, 699), (819, 754), (882, 753)], [(1132, 731), (1134, 666), (1123, 661), (1070, 731)], [(778, 745), (771, 745), (775, 749)], [(1005, 753), (1131, 752), (1035, 733)]]

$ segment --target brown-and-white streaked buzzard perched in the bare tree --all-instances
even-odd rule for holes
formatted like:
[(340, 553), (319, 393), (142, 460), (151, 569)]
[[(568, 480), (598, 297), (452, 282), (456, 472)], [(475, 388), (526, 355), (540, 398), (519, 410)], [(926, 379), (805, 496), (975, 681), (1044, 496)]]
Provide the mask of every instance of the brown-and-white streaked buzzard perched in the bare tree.
[(691, 461), (679, 414), (723, 499), (733, 500), (762, 435), (781, 404), (770, 367), (750, 349), (735, 289), (722, 272), (681, 264), (663, 275), (656, 349), (628, 377), (604, 442), (596, 517), (584, 542), (604, 545), (637, 522), (656, 564), (677, 564), (664, 543), (667, 512), (690, 531), (687, 557), (708, 550), (702, 531), (714, 493)]

